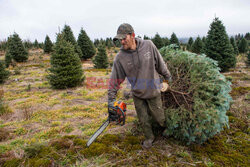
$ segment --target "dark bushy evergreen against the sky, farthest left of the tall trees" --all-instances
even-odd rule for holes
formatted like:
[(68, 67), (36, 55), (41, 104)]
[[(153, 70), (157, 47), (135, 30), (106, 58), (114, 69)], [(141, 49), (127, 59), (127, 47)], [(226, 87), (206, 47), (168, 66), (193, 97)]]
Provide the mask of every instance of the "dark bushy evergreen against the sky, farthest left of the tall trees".
[(28, 52), (25, 50), (22, 40), (17, 33), (8, 38), (8, 52), (16, 62), (28, 60)]

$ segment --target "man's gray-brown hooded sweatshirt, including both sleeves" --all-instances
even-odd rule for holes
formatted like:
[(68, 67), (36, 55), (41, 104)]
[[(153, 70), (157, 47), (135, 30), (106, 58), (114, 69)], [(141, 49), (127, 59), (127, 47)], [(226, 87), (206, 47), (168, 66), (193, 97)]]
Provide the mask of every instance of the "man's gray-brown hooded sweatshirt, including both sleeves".
[(160, 94), (160, 75), (171, 78), (167, 65), (150, 40), (136, 38), (136, 50), (120, 49), (109, 81), (108, 100), (114, 101), (119, 85), (127, 77), (134, 96), (150, 99)]

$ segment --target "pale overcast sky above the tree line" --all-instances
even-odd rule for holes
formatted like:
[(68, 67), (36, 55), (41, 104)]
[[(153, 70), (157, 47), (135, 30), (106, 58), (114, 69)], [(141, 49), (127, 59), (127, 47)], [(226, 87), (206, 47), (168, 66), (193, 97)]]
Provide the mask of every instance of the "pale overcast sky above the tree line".
[(250, 32), (250, 0), (0, 0), (0, 40), (17, 32), (22, 39), (55, 40), (69, 25), (77, 39), (114, 37), (121, 23), (136, 35), (205, 36), (215, 15), (229, 35)]

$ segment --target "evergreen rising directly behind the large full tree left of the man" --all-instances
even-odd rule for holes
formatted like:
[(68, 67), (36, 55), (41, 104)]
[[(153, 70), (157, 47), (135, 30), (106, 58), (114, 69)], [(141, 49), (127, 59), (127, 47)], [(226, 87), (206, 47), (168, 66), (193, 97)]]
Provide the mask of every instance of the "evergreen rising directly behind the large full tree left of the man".
[(71, 30), (69, 25), (64, 25), (64, 28), (62, 30), (62, 37), (64, 38), (64, 40), (70, 42), (74, 46), (75, 52), (78, 54), (80, 58), (82, 58), (83, 54), (81, 48), (77, 45), (73, 31)]

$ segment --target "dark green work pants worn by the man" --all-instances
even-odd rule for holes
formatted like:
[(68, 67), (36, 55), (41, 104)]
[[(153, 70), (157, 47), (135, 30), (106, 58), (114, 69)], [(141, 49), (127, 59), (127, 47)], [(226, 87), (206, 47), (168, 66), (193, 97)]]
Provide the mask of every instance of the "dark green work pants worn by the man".
[(152, 99), (140, 99), (133, 96), (135, 109), (146, 139), (153, 139), (152, 123), (157, 122), (161, 127), (165, 125), (165, 114), (162, 108), (161, 96)]

